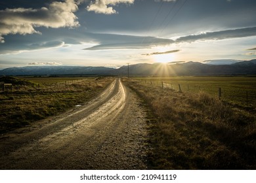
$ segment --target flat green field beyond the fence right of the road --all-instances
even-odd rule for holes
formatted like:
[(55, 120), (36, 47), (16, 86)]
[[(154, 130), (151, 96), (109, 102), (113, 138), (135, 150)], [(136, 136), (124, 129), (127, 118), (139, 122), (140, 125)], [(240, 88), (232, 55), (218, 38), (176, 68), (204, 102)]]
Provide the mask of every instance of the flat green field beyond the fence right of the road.
[(219, 97), (232, 105), (241, 107), (256, 107), (256, 77), (246, 76), (173, 76), (135, 78), (142, 84), (150, 84), (164, 88), (172, 88), (182, 92), (205, 92)]

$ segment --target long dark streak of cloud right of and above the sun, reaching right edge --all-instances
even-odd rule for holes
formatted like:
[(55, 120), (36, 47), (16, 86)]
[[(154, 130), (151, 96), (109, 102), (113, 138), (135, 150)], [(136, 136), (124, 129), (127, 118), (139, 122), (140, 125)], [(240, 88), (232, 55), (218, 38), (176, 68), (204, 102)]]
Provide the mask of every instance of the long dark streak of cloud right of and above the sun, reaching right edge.
[(198, 35), (188, 35), (176, 39), (176, 42), (195, 42), (199, 40), (222, 40), (239, 37), (256, 36), (256, 27), (246, 27), (242, 29), (230, 29), (224, 31), (215, 31), (200, 33)]

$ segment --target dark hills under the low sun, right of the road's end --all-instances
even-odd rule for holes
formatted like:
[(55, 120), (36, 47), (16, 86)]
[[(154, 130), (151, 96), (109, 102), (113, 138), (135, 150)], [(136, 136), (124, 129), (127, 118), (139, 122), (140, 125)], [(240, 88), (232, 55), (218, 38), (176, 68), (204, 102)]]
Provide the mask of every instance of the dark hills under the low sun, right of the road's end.
[[(197, 75), (256, 75), (256, 59), (241, 61), (231, 65), (207, 65), (189, 61), (172, 65), (162, 64), (137, 64), (129, 66), (131, 75), (151, 76), (197, 76)], [(127, 66), (117, 70), (117, 74), (127, 73)]]

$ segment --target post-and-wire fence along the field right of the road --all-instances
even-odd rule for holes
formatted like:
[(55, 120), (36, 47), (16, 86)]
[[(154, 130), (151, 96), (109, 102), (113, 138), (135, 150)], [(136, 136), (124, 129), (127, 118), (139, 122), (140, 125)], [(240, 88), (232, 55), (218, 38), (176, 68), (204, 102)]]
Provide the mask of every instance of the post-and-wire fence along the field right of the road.
[(256, 88), (241, 85), (230, 85), (225, 83), (171, 83), (163, 81), (138, 80), (142, 84), (150, 84), (161, 88), (188, 93), (205, 92), (223, 101), (235, 105), (256, 107)]

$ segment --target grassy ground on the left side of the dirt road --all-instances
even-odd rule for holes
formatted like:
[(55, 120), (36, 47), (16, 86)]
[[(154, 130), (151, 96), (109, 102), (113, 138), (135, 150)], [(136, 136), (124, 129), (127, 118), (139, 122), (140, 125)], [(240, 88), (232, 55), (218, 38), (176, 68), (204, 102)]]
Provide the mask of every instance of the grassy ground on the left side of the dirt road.
[[(41, 80), (40, 80), (41, 79)], [(83, 105), (102, 92), (113, 78), (14, 78), (0, 81), (12, 83), (12, 92), (0, 93), (0, 133), (32, 124)]]

